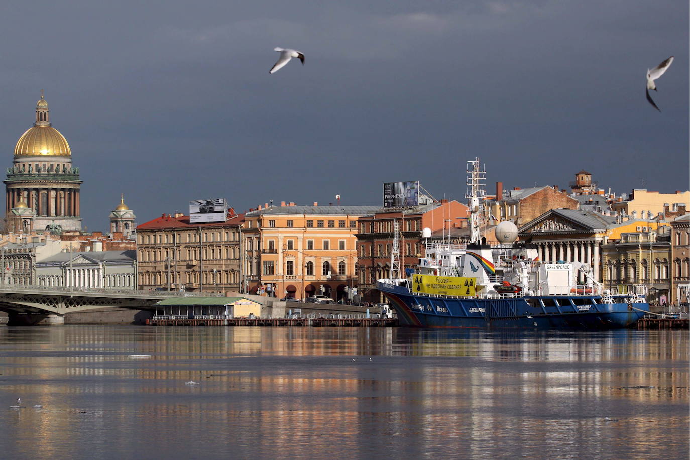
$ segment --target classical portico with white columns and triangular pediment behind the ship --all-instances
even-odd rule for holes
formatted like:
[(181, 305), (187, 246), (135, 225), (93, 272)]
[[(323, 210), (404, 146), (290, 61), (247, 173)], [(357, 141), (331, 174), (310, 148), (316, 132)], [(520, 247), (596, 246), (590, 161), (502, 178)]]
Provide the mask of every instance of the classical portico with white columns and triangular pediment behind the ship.
[(541, 261), (589, 263), (601, 279), (600, 246), (611, 223), (594, 212), (550, 210), (520, 228), (520, 239), (537, 245)]

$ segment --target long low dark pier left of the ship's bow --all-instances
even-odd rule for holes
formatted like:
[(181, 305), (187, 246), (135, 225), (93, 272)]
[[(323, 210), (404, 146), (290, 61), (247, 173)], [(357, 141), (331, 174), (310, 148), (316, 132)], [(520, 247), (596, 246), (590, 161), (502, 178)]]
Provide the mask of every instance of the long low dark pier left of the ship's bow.
[(233, 318), (233, 319), (147, 319), (148, 326), (338, 326), (382, 328), (397, 326), (395, 318)]

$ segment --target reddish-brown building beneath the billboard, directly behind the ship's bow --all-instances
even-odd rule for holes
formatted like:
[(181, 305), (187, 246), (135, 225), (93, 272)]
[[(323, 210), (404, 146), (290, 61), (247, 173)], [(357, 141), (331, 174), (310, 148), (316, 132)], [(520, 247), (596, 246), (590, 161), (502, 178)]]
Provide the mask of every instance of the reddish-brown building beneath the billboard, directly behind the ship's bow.
[(357, 277), (362, 301), (384, 301), (376, 280), (388, 277), (391, 269), (393, 228), (400, 229), (400, 269), (414, 268), (424, 252), (422, 230), (453, 230), (467, 226), (469, 208), (457, 201), (442, 200), (410, 209), (384, 209), (359, 217), (357, 237)]

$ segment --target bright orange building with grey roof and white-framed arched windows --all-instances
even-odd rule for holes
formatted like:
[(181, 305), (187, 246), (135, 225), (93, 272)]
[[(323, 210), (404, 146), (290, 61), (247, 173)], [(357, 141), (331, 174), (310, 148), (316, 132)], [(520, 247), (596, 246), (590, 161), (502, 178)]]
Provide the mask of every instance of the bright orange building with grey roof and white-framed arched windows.
[(259, 206), (244, 215), (244, 292), (346, 300), (357, 287), (357, 219), (378, 206)]

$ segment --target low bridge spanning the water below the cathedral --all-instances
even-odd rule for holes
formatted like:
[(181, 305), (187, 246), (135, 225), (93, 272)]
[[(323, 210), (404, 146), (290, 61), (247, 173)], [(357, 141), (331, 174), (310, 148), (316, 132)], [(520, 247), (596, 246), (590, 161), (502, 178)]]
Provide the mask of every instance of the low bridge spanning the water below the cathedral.
[[(242, 294), (239, 294), (242, 295)], [(67, 313), (103, 308), (154, 310), (156, 302), (170, 297), (224, 297), (207, 292), (63, 288), (58, 286), (0, 286), (0, 311), (8, 325), (60, 325)], [(255, 297), (255, 296), (249, 296)]]

